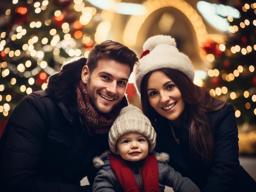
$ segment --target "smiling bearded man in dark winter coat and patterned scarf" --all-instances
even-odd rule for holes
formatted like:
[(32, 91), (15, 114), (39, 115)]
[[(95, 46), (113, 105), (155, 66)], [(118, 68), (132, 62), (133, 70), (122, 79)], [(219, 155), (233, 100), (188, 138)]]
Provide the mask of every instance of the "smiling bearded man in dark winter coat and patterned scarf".
[(128, 47), (105, 41), (25, 96), (0, 139), (0, 191), (91, 191), (80, 180), (96, 176), (92, 158), (108, 148), (137, 61)]

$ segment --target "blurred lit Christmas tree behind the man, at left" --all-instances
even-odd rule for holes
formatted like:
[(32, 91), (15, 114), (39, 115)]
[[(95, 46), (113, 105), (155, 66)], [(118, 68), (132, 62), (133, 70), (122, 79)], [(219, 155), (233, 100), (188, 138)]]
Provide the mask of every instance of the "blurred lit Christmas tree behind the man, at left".
[[(0, 18), (0, 120), (22, 97), (44, 89), (49, 75), (94, 45), (97, 10), (83, 0), (2, 2)], [(91, 21), (91, 22), (90, 22)], [(89, 23), (90, 22), (90, 23)], [(60, 82), (61, 83), (61, 82)]]

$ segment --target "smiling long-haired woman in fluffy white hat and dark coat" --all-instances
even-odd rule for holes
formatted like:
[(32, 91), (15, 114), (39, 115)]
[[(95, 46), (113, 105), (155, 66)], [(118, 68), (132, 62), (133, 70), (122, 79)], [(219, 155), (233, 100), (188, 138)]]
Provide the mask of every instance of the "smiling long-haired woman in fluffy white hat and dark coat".
[(193, 84), (191, 61), (171, 36), (153, 36), (143, 49), (135, 87), (157, 132), (155, 150), (170, 154), (169, 165), (201, 191), (255, 191), (239, 165), (234, 107)]

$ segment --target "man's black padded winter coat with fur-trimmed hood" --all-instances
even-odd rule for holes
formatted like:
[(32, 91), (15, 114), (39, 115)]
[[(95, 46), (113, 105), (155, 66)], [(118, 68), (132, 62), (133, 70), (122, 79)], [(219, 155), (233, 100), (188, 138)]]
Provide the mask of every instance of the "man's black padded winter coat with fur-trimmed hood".
[[(13, 110), (0, 139), (1, 192), (82, 192), (83, 177), (93, 182), (92, 159), (108, 149), (108, 134), (88, 135), (79, 118), (76, 86), (85, 63), (66, 64), (46, 90)], [(127, 104), (124, 97), (121, 107)]]

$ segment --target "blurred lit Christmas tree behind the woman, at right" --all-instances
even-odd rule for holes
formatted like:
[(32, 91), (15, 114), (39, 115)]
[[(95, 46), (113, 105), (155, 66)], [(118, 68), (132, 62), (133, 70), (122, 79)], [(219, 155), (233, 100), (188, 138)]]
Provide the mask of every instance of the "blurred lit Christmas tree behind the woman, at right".
[(237, 1), (240, 18), (228, 18), (225, 44), (207, 41), (204, 51), (214, 59), (206, 86), (217, 98), (234, 105), (238, 125), (256, 124), (256, 2)]

